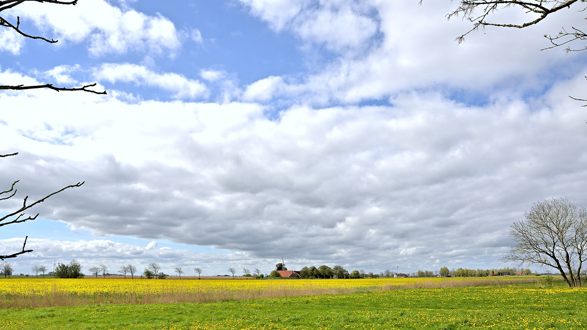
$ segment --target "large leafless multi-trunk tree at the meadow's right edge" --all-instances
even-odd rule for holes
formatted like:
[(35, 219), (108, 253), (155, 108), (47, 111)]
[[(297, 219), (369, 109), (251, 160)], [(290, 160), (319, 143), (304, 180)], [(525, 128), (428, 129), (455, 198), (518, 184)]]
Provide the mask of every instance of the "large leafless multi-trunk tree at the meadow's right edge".
[(569, 287), (581, 287), (587, 210), (566, 199), (547, 199), (535, 203), (524, 217), (510, 227), (516, 244), (502, 260), (556, 268)]

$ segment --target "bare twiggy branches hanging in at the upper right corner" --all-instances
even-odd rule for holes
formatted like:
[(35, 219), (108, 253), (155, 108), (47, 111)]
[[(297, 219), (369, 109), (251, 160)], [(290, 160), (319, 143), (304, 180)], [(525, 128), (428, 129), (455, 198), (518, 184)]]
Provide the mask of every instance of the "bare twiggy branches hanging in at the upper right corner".
[[(420, 4), (422, 1), (423, 0), (420, 0)], [(461, 43), (465, 40), (466, 35), (478, 29), (484, 29), (485, 26), (502, 26), (505, 28), (522, 29), (527, 26), (535, 25), (545, 19), (546, 16), (559, 12), (564, 8), (571, 8), (571, 6), (576, 8), (575, 4), (581, 4), (583, 2), (587, 2), (587, 0), (460, 0), (458, 8), (453, 12), (448, 13), (446, 18), (451, 19), (461, 16), (463, 17), (463, 20), (473, 22), (473, 28), (456, 39), (458, 43)], [(524, 23), (518, 24), (488, 21), (488, 18), (492, 17), (492, 13), (506, 8), (519, 8), (528, 13), (531, 18)], [(587, 8), (585, 7), (579, 7), (579, 11), (586, 11), (586, 9)], [(552, 46), (541, 50), (563, 45), (567, 45), (565, 48), (565, 52), (567, 53), (579, 52), (587, 49), (587, 46), (585, 45), (576, 49), (573, 49), (568, 45), (575, 40), (587, 40), (587, 34), (575, 26), (571, 26), (571, 29), (562, 28), (562, 30), (555, 36), (544, 35), (544, 37), (549, 40)], [(587, 101), (587, 99), (575, 98), (572, 96), (569, 97), (573, 100)], [(587, 107), (587, 104), (583, 107)]]

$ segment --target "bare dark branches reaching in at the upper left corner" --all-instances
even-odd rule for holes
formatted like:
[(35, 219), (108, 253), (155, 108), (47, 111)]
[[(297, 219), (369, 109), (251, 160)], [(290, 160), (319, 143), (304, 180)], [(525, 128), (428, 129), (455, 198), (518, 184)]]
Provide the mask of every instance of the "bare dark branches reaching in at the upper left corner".
[[(21, 5), (25, 2), (48, 2), (50, 4), (58, 4), (58, 5), (76, 5), (77, 0), (73, 1), (58, 1), (58, 0), (2, 0), (0, 1), (0, 15), (3, 15), (3, 11), (7, 9), (15, 8), (18, 5)], [(21, 30), (21, 18), (16, 16), (16, 23), (14, 21), (10, 22), (6, 16), (0, 16), (0, 26), (5, 26), (6, 28), (13, 29), (18, 32), (20, 35), (25, 36), (26, 38), (31, 39), (40, 39), (48, 43), (56, 43), (59, 40), (49, 40), (43, 38), (41, 36), (32, 36), (29, 35)], [(96, 86), (96, 83), (85, 85), (82, 87), (75, 87), (75, 88), (65, 88), (65, 87), (55, 87), (53, 84), (42, 84), (42, 85), (35, 85), (35, 86), (25, 86), (25, 85), (15, 85), (15, 86), (0, 86), (0, 90), (28, 90), (28, 89), (52, 89), (55, 91), (87, 91), (89, 93), (94, 94), (106, 94), (106, 91), (95, 91), (89, 89), (89, 87)]]

